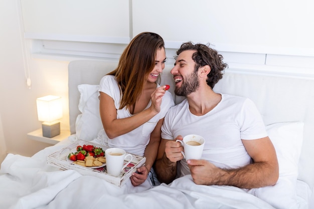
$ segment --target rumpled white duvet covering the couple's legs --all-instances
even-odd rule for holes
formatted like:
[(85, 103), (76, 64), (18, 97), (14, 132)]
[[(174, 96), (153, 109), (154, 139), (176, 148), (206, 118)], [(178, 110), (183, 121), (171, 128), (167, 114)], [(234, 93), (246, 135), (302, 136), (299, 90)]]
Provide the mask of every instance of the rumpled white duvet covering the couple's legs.
[(33, 157), (8, 154), (0, 169), (0, 208), (274, 208), (237, 187), (196, 185), (190, 175), (170, 185), (151, 188), (147, 180), (133, 187), (128, 181), (118, 188), (48, 165), (46, 156), (65, 145), (48, 147)]

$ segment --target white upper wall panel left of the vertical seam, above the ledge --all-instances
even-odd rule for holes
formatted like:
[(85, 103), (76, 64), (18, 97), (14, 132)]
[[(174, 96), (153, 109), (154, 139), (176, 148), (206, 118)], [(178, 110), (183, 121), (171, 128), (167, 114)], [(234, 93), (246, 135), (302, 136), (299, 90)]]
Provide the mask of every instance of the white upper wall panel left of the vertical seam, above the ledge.
[(25, 36), (129, 42), (129, 1), (22, 0)]

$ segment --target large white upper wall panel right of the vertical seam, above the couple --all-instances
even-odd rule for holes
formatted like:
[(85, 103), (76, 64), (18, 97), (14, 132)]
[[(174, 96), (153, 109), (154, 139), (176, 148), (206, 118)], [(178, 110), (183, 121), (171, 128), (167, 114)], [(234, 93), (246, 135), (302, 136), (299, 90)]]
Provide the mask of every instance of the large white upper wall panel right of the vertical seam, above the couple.
[[(307, 0), (133, 1), (133, 33), (156, 31), (166, 41), (210, 42), (228, 52), (311, 55), (314, 3)], [(140, 14), (140, 15), (139, 15)]]

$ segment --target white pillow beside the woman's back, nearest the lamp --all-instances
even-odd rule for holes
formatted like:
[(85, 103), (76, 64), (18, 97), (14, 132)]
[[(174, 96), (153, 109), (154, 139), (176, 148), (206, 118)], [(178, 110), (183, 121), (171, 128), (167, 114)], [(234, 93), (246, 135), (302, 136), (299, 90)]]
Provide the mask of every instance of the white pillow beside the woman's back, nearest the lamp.
[(99, 115), (99, 85), (78, 85), (80, 92), (79, 110), (75, 122), (76, 138), (91, 141), (103, 128)]

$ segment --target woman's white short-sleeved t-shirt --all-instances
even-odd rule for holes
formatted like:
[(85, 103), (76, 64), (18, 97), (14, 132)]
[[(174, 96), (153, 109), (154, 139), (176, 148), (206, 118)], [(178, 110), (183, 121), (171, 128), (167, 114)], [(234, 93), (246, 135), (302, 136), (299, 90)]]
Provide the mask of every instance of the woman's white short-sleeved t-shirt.
[[(157, 85), (157, 87), (159, 86), (160, 85)], [(117, 109), (118, 119), (132, 116), (132, 114), (130, 114), (126, 107), (123, 109), (119, 109), (122, 96), (120, 94), (120, 88), (114, 76), (104, 76), (100, 81), (99, 91), (112, 97), (112, 99), (114, 100), (115, 108)], [(150, 104), (151, 101), (148, 103), (145, 109), (150, 107)], [(145, 148), (150, 139), (150, 133), (155, 128), (158, 121), (164, 118), (170, 107), (174, 105), (175, 104), (171, 93), (166, 92), (162, 100), (161, 111), (154, 117), (152, 117), (149, 121), (142, 124), (138, 128), (113, 139), (109, 139), (104, 129), (102, 129), (98, 133), (96, 141), (108, 147), (119, 147), (124, 149), (126, 152), (143, 156)]]

